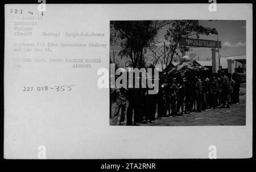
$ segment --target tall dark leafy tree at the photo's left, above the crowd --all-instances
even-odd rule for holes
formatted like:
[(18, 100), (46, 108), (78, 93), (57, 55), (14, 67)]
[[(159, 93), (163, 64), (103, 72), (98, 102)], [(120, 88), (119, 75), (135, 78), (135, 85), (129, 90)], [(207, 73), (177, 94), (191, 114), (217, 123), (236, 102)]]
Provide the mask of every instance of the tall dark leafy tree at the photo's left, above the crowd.
[(154, 42), (158, 31), (170, 20), (112, 21), (121, 40), (121, 57), (129, 57), (134, 68), (144, 66), (143, 54)]

